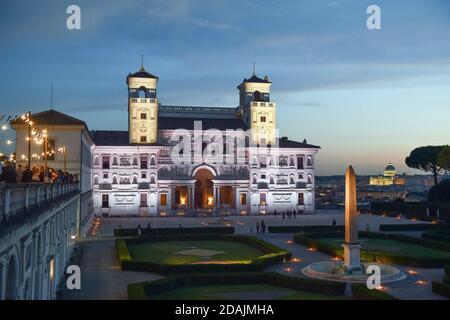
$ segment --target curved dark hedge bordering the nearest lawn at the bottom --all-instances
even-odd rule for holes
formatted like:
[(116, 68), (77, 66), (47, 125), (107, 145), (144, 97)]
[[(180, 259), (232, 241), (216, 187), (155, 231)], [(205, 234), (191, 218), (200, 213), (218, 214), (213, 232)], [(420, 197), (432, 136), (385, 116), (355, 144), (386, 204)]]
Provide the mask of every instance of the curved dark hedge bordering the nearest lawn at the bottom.
[(151, 299), (153, 294), (183, 286), (271, 284), (273, 286), (329, 295), (342, 295), (345, 284), (307, 278), (290, 277), (279, 273), (216, 273), (169, 276), (165, 279), (128, 285), (128, 299)]

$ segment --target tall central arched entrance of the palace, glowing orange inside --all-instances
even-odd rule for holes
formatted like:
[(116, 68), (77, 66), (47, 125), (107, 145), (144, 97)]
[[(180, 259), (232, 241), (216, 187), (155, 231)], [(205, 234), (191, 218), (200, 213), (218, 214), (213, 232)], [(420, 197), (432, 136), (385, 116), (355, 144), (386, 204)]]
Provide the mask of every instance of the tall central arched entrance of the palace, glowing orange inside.
[(211, 170), (201, 168), (194, 174), (195, 181), (195, 209), (212, 209), (214, 207), (214, 189)]

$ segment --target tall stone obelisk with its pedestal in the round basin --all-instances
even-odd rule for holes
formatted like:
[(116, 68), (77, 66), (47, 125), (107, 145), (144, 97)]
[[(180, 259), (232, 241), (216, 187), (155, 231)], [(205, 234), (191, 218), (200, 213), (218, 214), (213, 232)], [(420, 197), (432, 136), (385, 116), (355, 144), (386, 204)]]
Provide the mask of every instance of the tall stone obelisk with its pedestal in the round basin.
[(345, 242), (344, 267), (350, 273), (361, 273), (358, 242), (358, 212), (356, 202), (356, 174), (352, 166), (345, 172)]

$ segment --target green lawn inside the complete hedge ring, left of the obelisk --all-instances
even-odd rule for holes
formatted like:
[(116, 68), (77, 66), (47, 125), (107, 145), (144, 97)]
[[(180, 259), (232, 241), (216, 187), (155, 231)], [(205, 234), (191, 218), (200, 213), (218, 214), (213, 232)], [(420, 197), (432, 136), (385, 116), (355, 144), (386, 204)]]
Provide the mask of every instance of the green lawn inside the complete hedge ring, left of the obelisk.
[(265, 254), (244, 243), (221, 240), (154, 241), (129, 245), (128, 250), (134, 260), (169, 265), (229, 261), (250, 263)]

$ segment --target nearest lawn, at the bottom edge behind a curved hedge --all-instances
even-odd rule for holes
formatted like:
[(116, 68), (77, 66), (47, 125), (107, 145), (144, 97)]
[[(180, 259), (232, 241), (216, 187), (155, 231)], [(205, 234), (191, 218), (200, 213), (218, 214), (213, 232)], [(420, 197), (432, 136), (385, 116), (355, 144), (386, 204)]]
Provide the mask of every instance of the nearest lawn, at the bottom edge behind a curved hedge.
[(270, 284), (180, 287), (152, 295), (154, 300), (342, 300), (345, 296), (316, 294)]

